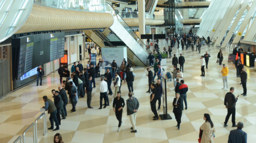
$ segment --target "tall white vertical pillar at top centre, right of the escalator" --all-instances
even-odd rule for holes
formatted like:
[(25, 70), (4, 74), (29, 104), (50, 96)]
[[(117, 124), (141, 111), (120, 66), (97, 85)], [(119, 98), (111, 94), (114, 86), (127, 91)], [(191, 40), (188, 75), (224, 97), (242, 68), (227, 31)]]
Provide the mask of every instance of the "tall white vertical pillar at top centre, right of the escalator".
[[(139, 18), (139, 30), (140, 30), (140, 38), (141, 34), (145, 34), (146, 32), (146, 24), (145, 24), (145, 0), (138, 0), (138, 18)], [(145, 40), (142, 40), (145, 43)]]

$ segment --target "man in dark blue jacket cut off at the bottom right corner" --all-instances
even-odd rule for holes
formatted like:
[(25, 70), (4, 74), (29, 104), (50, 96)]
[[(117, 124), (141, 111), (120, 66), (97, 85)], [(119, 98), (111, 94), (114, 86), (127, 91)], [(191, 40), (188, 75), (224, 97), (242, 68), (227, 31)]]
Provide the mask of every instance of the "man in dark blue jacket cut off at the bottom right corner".
[(237, 129), (231, 130), (228, 143), (247, 143), (247, 133), (242, 130), (243, 123), (237, 123)]

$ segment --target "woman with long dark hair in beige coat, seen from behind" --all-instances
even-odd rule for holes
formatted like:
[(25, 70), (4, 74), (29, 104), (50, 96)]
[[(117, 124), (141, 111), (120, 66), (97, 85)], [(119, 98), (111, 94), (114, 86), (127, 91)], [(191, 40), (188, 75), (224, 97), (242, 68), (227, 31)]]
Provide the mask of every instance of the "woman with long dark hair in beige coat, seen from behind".
[(201, 143), (213, 143), (213, 133), (215, 132), (215, 127), (213, 122), (211, 121), (210, 114), (204, 114), (205, 122), (200, 127), (203, 130)]

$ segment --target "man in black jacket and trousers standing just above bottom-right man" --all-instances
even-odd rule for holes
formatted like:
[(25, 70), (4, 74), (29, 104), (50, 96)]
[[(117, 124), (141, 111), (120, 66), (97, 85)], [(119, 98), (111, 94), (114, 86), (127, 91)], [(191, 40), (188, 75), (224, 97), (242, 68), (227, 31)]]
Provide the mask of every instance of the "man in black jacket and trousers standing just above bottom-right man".
[(229, 121), (229, 117), (232, 114), (232, 127), (236, 127), (236, 102), (238, 97), (234, 96), (234, 87), (230, 88), (230, 91), (225, 95), (224, 105), (227, 108), (227, 116), (224, 122), (224, 127), (227, 127), (227, 122)]

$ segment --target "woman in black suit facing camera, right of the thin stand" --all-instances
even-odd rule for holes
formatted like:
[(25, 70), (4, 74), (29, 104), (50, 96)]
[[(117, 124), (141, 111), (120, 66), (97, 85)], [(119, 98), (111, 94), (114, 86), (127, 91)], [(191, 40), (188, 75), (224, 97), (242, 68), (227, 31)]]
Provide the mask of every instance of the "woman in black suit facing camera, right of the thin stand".
[(173, 99), (173, 113), (177, 121), (176, 127), (178, 127), (178, 130), (180, 130), (182, 108), (181, 108), (181, 98), (180, 98), (179, 92), (176, 92), (176, 98)]

